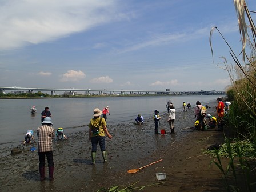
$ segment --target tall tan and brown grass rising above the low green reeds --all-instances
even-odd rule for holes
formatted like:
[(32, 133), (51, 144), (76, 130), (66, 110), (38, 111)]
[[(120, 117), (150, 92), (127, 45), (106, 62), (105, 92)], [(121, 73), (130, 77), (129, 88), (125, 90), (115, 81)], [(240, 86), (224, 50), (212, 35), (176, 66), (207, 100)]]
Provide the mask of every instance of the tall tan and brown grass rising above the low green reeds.
[[(234, 125), (235, 133), (239, 137), (246, 137), (250, 141), (256, 141), (256, 29), (245, 1), (235, 0), (234, 5), (241, 34), (242, 62), (239, 61), (238, 56), (235, 55), (217, 27), (211, 29), (210, 46), (211, 35), (217, 29), (229, 47), (229, 53), (233, 58), (233, 63), (228, 64), (227, 59), (222, 57), (223, 64), (231, 80), (231, 86), (227, 88), (227, 98), (232, 99), (229, 121)], [(249, 23), (246, 23), (246, 20)], [(247, 27), (249, 28), (247, 29)], [(213, 54), (212, 46), (211, 51)]]

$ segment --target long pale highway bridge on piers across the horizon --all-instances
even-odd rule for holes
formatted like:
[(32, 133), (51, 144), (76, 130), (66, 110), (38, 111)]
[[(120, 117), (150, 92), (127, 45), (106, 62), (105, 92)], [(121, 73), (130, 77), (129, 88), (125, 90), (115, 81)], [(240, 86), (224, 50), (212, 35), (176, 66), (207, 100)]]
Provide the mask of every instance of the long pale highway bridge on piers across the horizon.
[(148, 90), (108, 90), (108, 89), (55, 89), (55, 88), (32, 88), (32, 87), (0, 87), (0, 93), (5, 93), (5, 91), (13, 91), (14, 93), (18, 93), (18, 91), (25, 91), (27, 93), (34, 93), (38, 91), (48, 91), (51, 95), (56, 95), (56, 92), (62, 92), (63, 94), (75, 95), (75, 94), (98, 94), (98, 95), (125, 95), (125, 94), (138, 94), (138, 95), (149, 95), (149, 94), (158, 94), (158, 95), (217, 95), (217, 94), (225, 94), (224, 91), (148, 91)]

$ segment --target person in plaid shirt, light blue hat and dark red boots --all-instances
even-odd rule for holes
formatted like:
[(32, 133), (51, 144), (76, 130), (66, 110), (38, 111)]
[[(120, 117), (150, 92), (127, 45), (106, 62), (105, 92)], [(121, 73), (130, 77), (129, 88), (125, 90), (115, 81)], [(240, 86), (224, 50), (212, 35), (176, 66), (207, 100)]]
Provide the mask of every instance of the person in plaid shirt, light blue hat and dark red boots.
[(53, 162), (53, 139), (54, 127), (50, 117), (44, 118), (42, 126), (37, 129), (38, 137), (38, 156), (40, 181), (45, 180), (45, 156), (48, 162), (49, 180), (52, 181), (54, 162)]

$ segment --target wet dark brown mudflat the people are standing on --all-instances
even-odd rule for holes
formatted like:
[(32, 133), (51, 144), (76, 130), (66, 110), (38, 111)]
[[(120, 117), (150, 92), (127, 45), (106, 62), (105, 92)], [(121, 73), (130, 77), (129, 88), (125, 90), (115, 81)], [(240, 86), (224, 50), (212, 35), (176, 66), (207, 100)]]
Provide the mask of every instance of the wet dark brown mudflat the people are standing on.
[[(215, 115), (216, 103), (207, 105), (211, 107), (207, 113)], [(157, 181), (155, 173), (166, 173), (166, 180), (143, 191), (225, 191), (222, 174), (216, 166), (209, 167), (214, 158), (201, 152), (210, 145), (223, 143), (223, 133), (214, 129), (184, 129), (194, 125), (194, 109), (189, 109), (186, 112), (177, 110), (174, 121), (176, 134), (169, 135), (167, 114), (160, 115), (159, 128), (165, 128), (166, 135), (154, 134), (153, 117), (145, 119), (141, 126), (135, 125), (133, 119), (108, 125), (113, 139), (106, 138), (109, 158), (106, 164), (102, 163), (98, 146), (96, 165), (90, 165), (88, 127), (67, 135), (69, 140), (55, 140), (55, 179), (51, 182), (47, 165), (47, 179), (39, 181), (38, 154), (37, 151), (30, 151), (31, 146), (23, 148), (19, 145), (22, 153), (16, 155), (10, 155), (15, 146), (5, 147), (0, 157), (0, 191), (97, 191), (112, 185), (129, 186), (137, 181), (135, 186), (146, 186), (162, 182)], [(145, 167), (138, 173), (127, 173), (127, 170), (138, 169), (159, 159), (163, 161)]]

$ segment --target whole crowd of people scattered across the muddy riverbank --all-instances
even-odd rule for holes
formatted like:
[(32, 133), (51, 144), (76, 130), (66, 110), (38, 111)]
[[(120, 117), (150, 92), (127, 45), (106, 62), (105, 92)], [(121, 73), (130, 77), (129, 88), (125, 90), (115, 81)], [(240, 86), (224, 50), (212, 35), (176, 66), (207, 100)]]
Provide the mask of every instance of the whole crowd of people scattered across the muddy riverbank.
[[(222, 102), (222, 98), (217, 98), (218, 105), (217, 109), (217, 118), (213, 115), (206, 114), (207, 107), (201, 105), (201, 102), (197, 101), (195, 105), (195, 122), (197, 122), (198, 130), (206, 130), (206, 121), (205, 119), (209, 119), (209, 127), (216, 127), (218, 126), (218, 131), (223, 130), (224, 122), (223, 117), (225, 115), (224, 107), (225, 104)], [(190, 103), (183, 102), (182, 106), (187, 107)], [(231, 103), (230, 103), (231, 104)], [(230, 105), (229, 104), (229, 105)], [(173, 103), (169, 100), (167, 102), (167, 113), (169, 114), (167, 121), (169, 122), (170, 127), (170, 134), (174, 134), (174, 120), (175, 120), (175, 107)], [(191, 105), (190, 105), (191, 107)], [(182, 107), (183, 109), (183, 107)], [(185, 108), (186, 110), (186, 108)], [(107, 129), (107, 114), (109, 113), (109, 106), (106, 106), (103, 110), (99, 110), (99, 108), (95, 108), (93, 110), (93, 118), (90, 119), (89, 122), (89, 141), (91, 142), (91, 164), (95, 165), (96, 163), (96, 153), (97, 153), (97, 146), (99, 144), (103, 163), (107, 162), (107, 151), (105, 146), (105, 138), (108, 137), (112, 139), (112, 135), (109, 133)], [(154, 133), (159, 134), (158, 125), (160, 123), (160, 115), (159, 111), (156, 109), (154, 110)], [(144, 118), (141, 114), (138, 114), (137, 118), (135, 119), (136, 123), (141, 125), (144, 122)], [(54, 179), (54, 161), (53, 161), (53, 139), (55, 135), (60, 138), (60, 136), (67, 139), (67, 137), (63, 134), (63, 128), (58, 128), (57, 133), (55, 134), (55, 130), (53, 127), (53, 123), (51, 121), (51, 113), (49, 111), (49, 107), (45, 107), (45, 110), (41, 113), (41, 123), (42, 125), (37, 129), (37, 137), (38, 137), (38, 157), (39, 157), (39, 173), (40, 173), (40, 181), (44, 181), (45, 177), (45, 157), (47, 158), (48, 162), (48, 169), (49, 169), (49, 180), (52, 181)], [(195, 123), (196, 125), (196, 123)], [(27, 142), (33, 141), (33, 130), (28, 130), (25, 135), (24, 144)]]

